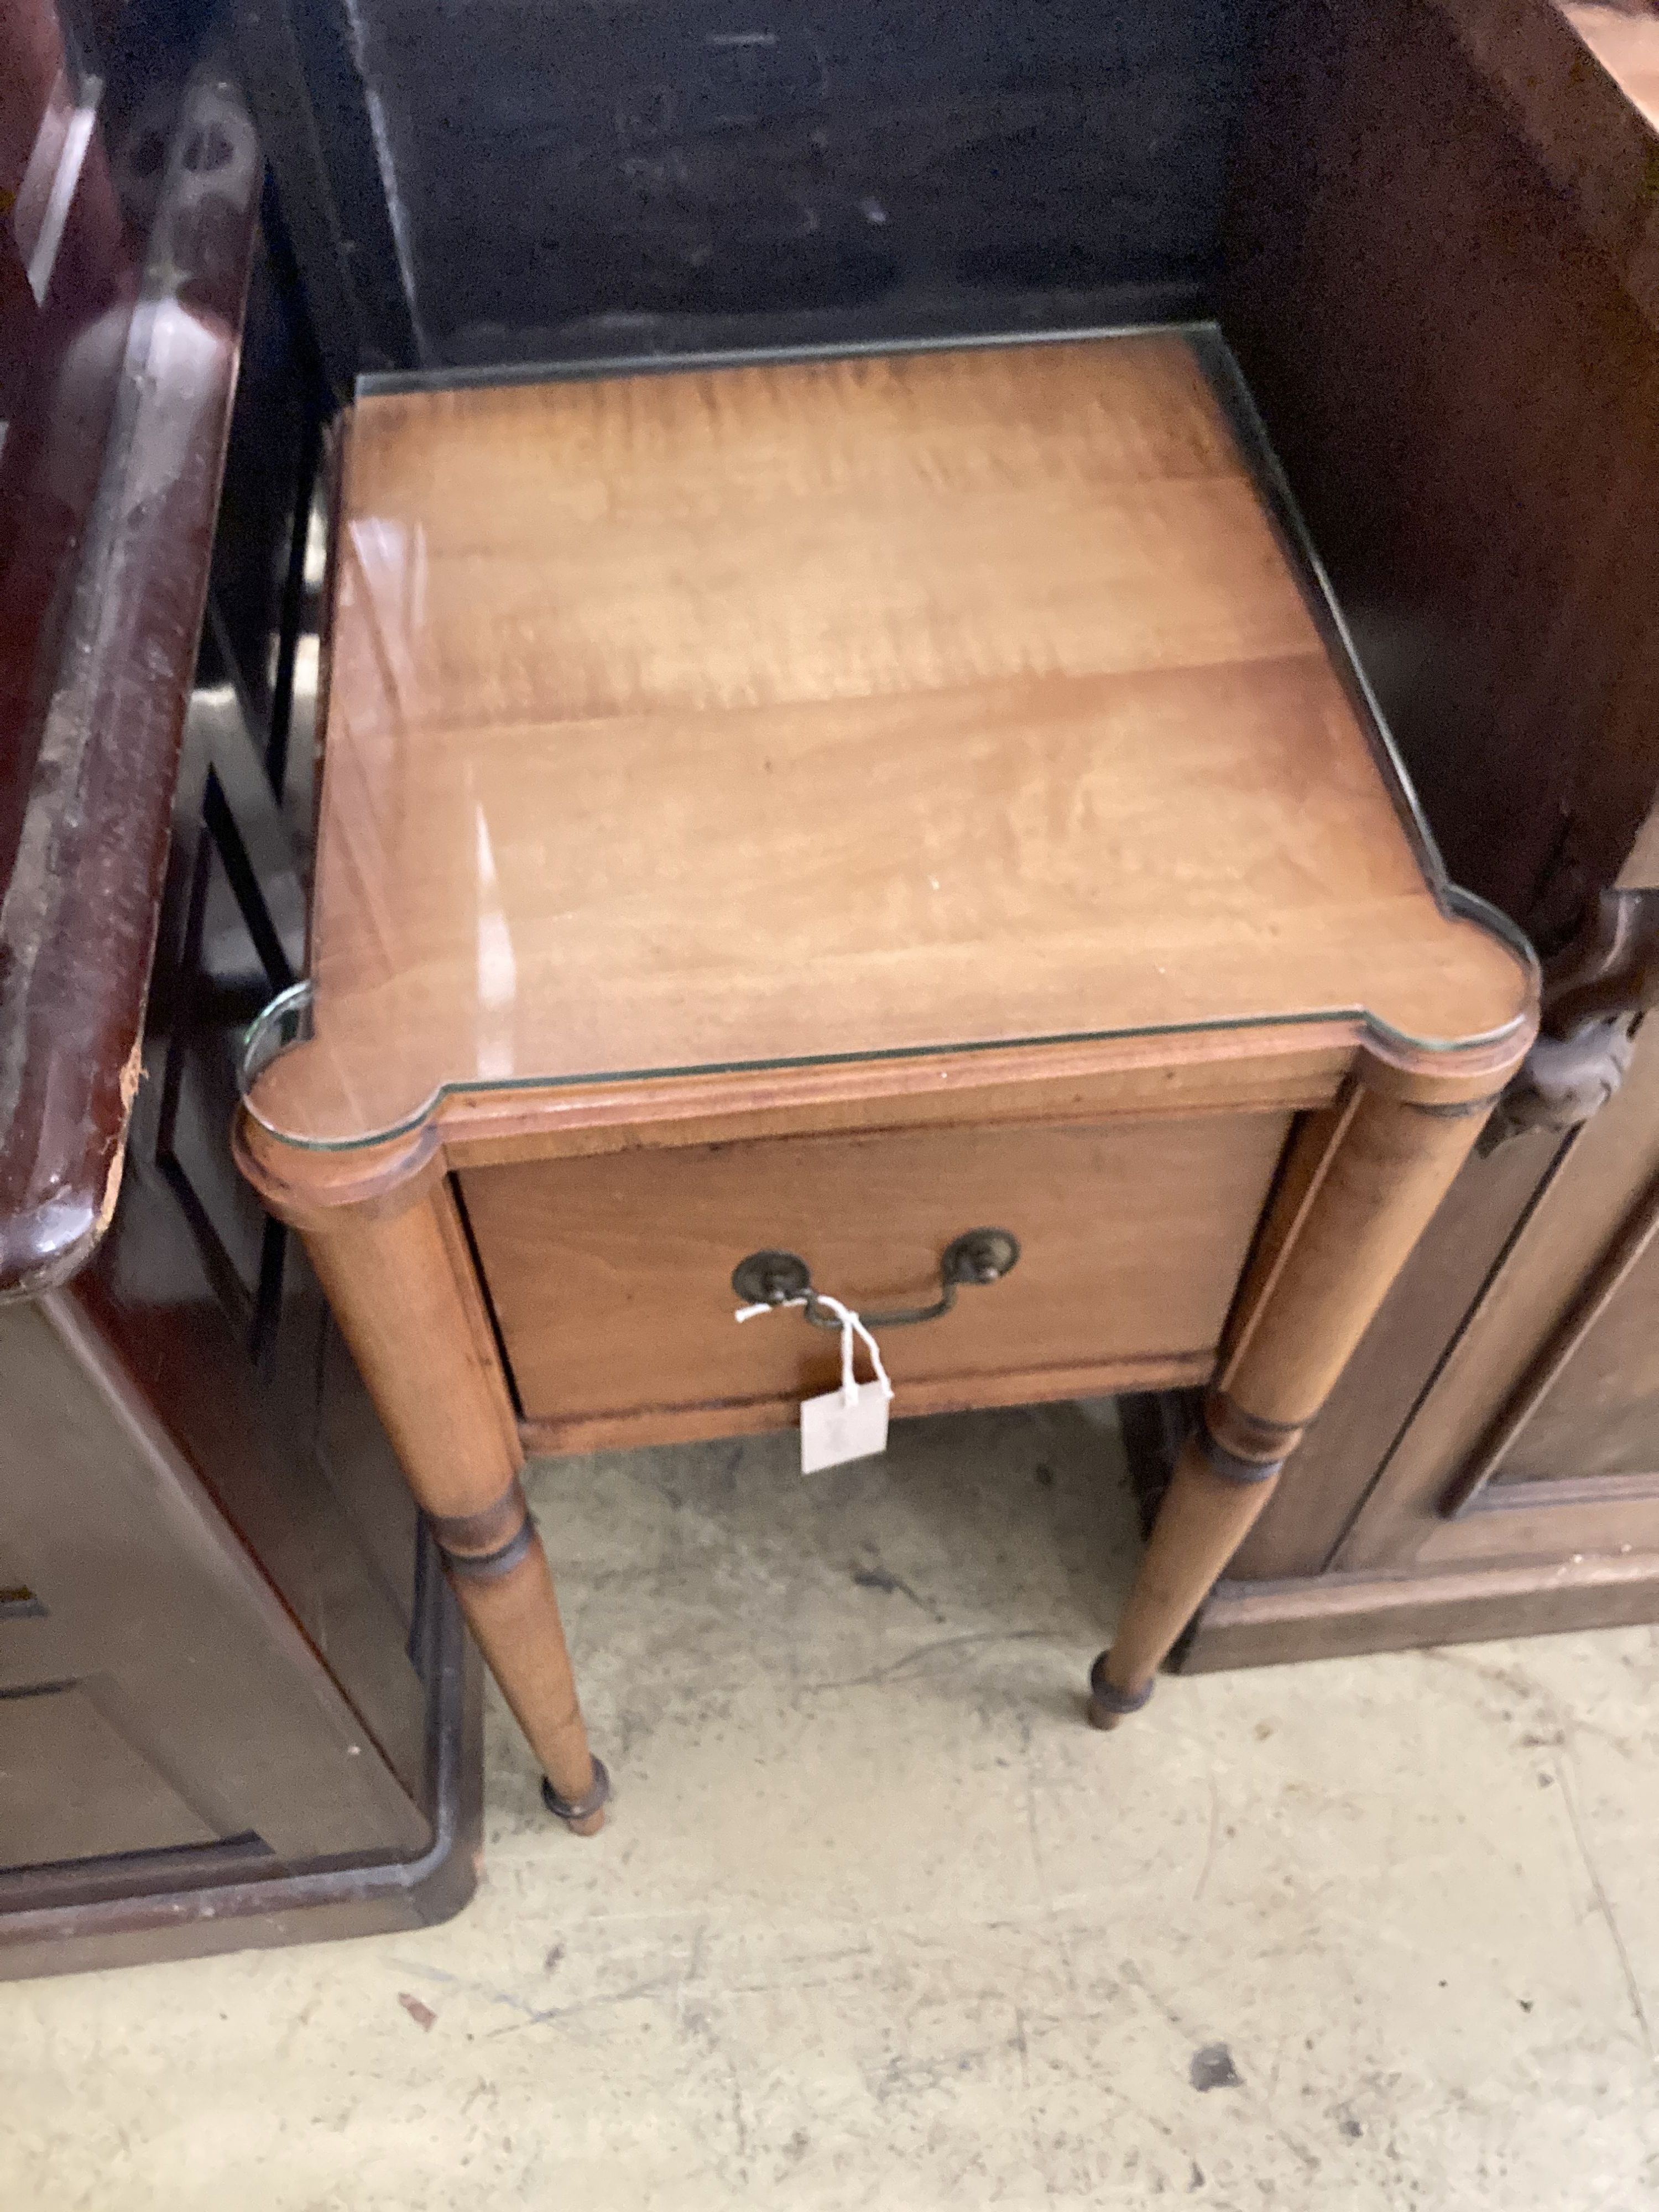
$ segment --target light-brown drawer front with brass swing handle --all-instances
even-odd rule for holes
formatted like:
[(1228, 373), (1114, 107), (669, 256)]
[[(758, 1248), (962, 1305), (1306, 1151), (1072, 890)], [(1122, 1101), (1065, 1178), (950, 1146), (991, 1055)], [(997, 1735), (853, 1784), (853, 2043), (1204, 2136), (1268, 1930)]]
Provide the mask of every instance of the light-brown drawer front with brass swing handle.
[(936, 1298), (962, 1230), (1020, 1239), (1004, 1281), (885, 1332), (896, 1413), (1197, 1380), (1287, 1130), (1254, 1113), (787, 1137), (473, 1168), (462, 1197), (533, 1442), (580, 1449), (765, 1427), (834, 1385), (834, 1334), (732, 1321), (732, 1267), (768, 1248), (874, 1310)]

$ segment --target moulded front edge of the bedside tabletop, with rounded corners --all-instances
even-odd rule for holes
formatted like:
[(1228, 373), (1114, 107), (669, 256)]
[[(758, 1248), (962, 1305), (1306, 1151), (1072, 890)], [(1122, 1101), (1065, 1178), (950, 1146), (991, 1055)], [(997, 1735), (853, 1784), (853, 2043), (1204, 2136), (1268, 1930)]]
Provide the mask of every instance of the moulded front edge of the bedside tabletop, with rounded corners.
[[(265, 1206), (303, 1228), (338, 1206), (396, 1212), (414, 1203), (425, 1177), (447, 1170), (635, 1146), (984, 1119), (1316, 1110), (1336, 1097), (1347, 1075), (1405, 1104), (1484, 1104), (1526, 1057), (1535, 1031), (1533, 991), (1526, 1013), (1502, 1037), (1447, 1053), (1396, 1046), (1352, 1018), (1144, 1031), (832, 1066), (453, 1091), (414, 1128), (336, 1150), (279, 1137), (243, 1106), (234, 1146)], [(1068, 1097), (1068, 1086), (1099, 1088)], [(993, 1097), (1000, 1091), (1009, 1095)]]

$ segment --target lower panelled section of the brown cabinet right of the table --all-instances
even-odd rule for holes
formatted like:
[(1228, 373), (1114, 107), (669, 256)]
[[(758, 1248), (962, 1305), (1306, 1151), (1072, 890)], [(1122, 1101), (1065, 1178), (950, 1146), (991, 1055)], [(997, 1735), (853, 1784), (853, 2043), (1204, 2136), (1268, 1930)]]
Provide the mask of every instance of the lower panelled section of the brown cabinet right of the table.
[[(1471, 1161), (1188, 1668), (1659, 1617), (1657, 1046), (1582, 1128)], [(1179, 1418), (1130, 1409), (1152, 1480)]]

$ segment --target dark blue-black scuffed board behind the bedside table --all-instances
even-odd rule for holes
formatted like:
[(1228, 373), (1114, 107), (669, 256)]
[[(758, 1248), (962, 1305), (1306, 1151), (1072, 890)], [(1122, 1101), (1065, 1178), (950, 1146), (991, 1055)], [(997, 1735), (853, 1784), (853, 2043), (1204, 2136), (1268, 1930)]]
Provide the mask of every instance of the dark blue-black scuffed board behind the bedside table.
[[(321, 111), (349, 91), (352, 42), (336, 22), (325, 66), (332, 11), (301, 13)], [(354, 51), (418, 365), (546, 358), (595, 319), (635, 352), (695, 319), (907, 299), (960, 325), (987, 294), (1208, 285), (1254, 13), (365, 0)], [(332, 204), (385, 290), (378, 195), (341, 144), (323, 137)]]

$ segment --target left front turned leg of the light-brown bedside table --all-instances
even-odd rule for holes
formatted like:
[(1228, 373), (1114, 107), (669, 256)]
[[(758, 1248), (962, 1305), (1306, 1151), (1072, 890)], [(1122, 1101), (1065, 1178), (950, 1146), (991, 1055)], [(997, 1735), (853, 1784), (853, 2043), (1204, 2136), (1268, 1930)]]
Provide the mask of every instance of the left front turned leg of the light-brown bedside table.
[(303, 1237), (467, 1624), (542, 1763), (542, 1798), (593, 1836), (611, 1781), (588, 1752), (553, 1577), (518, 1482), (518, 1422), (449, 1186), (431, 1181), (400, 1212), (341, 1208)]

